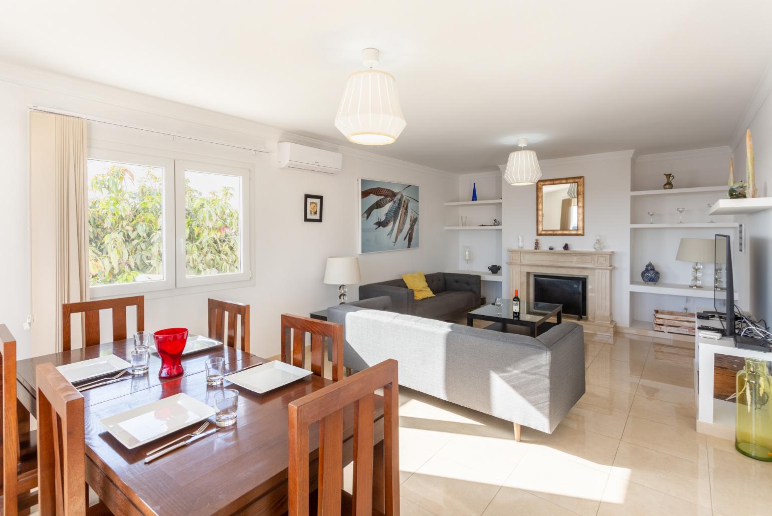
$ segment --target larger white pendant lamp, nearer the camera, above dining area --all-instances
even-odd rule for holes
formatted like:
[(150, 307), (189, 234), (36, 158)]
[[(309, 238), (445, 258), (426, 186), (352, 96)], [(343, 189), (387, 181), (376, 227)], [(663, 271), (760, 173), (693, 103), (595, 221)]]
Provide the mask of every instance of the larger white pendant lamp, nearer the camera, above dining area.
[(378, 49), (362, 50), (362, 61), (368, 69), (348, 76), (335, 126), (354, 143), (394, 143), (407, 125), (399, 105), (396, 80), (391, 73), (373, 69), (378, 66)]

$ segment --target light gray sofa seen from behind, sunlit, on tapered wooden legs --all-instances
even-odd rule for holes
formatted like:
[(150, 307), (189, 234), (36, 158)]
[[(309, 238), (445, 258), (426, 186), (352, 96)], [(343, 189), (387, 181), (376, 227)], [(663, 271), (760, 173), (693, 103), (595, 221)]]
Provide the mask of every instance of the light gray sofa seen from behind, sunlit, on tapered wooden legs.
[(337, 305), (344, 366), (399, 363), (399, 383), (451, 403), (552, 433), (584, 394), (584, 332), (563, 322), (536, 338), (392, 312), (389, 297)]

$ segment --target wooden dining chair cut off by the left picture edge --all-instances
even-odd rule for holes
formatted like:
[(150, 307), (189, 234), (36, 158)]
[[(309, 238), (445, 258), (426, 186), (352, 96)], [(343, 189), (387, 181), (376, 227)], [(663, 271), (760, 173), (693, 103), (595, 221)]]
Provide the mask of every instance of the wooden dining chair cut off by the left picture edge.
[(37, 504), (36, 432), (29, 431), (29, 412), (16, 398), (16, 339), (0, 325), (2, 355), (2, 509), (5, 516), (27, 512)]

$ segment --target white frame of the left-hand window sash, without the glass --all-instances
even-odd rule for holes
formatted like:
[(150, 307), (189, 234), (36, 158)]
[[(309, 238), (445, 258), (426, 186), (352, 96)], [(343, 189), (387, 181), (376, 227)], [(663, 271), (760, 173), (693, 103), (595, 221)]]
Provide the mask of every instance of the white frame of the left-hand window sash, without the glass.
[[(164, 169), (164, 175), (161, 178), (161, 205), (163, 210), (161, 224), (163, 228), (162, 252), (164, 253), (164, 279), (155, 282), (115, 283), (113, 285), (92, 286), (90, 285), (91, 280), (89, 275), (90, 297), (104, 298), (174, 288), (174, 160), (168, 157), (94, 148), (89, 149), (88, 159), (139, 165), (142, 167), (162, 167)], [(86, 225), (88, 225), (87, 217), (88, 213), (86, 213)], [(86, 257), (88, 257), (88, 255), (86, 255)]]

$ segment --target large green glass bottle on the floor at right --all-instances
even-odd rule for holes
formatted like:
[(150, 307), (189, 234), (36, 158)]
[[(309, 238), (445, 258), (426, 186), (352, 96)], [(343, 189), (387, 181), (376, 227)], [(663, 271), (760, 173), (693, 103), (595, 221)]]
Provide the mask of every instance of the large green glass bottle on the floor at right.
[(737, 373), (737, 420), (734, 447), (743, 455), (772, 462), (772, 376), (767, 362), (745, 359)]

